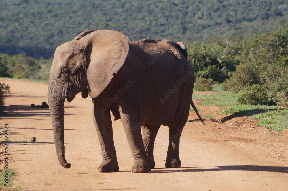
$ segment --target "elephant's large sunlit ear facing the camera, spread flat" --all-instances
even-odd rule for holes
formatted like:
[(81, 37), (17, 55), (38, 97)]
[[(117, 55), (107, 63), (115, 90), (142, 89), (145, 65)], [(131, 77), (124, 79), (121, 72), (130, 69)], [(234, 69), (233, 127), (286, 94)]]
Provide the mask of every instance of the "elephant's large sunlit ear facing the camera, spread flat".
[(87, 55), (88, 93), (91, 98), (96, 98), (124, 64), (129, 38), (121, 32), (97, 30), (82, 37), (79, 42)]

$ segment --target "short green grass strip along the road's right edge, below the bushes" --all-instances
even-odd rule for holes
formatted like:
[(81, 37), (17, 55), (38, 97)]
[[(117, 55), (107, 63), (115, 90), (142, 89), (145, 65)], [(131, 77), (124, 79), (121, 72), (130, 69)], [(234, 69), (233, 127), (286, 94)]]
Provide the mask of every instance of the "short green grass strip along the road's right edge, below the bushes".
[[(193, 99), (201, 99), (202, 104), (207, 106), (216, 105), (224, 107), (222, 114), (233, 114), (237, 116), (248, 116), (250, 119), (257, 119), (257, 125), (282, 132), (288, 129), (288, 110), (278, 110), (277, 106), (267, 105), (247, 105), (239, 104), (237, 102), (240, 97), (240, 92), (221, 91), (221, 88), (215, 89), (220, 91), (213, 91), (209, 95), (198, 95), (197, 91), (193, 94)], [(207, 118), (212, 118), (208, 116)]]

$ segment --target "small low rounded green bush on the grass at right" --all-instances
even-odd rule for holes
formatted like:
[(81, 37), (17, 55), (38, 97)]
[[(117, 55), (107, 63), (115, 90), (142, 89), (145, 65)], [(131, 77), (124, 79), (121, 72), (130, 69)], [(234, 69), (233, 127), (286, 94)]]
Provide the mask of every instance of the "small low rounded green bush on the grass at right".
[(275, 105), (272, 95), (268, 95), (267, 86), (254, 84), (238, 99), (240, 104)]

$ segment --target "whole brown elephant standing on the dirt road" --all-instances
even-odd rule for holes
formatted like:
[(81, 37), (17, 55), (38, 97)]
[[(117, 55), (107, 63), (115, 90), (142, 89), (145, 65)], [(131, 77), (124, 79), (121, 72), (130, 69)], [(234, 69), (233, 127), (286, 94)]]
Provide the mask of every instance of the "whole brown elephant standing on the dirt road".
[[(82, 98), (92, 98), (103, 157), (99, 172), (119, 171), (111, 113), (114, 120), (122, 121), (134, 157), (132, 172), (145, 173), (155, 167), (153, 148), (161, 125), (169, 127), (170, 137), (165, 166), (180, 167), (180, 136), (193, 104), (194, 81), (185, 56), (164, 42), (130, 41), (121, 32), (88, 30), (60, 45), (48, 85), (60, 165), (71, 167), (65, 159), (64, 102), (71, 102), (81, 92)], [(194, 110), (198, 114), (195, 106)]]

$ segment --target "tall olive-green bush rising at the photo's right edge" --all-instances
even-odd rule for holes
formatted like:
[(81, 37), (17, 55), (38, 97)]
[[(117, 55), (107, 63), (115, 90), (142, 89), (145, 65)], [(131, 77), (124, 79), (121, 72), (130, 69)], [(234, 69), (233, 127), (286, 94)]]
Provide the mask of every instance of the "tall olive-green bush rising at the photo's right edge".
[(258, 84), (270, 92), (272, 102), (287, 107), (288, 23), (270, 35), (255, 38), (244, 52), (245, 57), (231, 73), (227, 87), (240, 90)]

